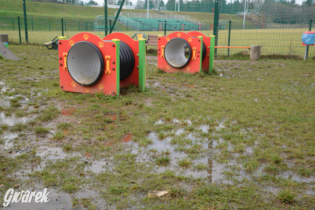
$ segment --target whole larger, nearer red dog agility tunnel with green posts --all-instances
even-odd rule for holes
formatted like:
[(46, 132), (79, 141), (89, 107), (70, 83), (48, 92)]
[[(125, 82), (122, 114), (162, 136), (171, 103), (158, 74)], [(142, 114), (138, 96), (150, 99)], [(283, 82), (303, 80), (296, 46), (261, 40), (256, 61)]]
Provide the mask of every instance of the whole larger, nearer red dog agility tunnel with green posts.
[[(123, 41), (121, 41), (123, 40)], [(59, 41), (60, 88), (64, 91), (118, 95), (129, 84), (145, 89), (145, 39), (124, 33), (101, 39), (78, 33)]]

